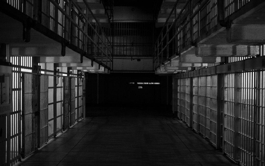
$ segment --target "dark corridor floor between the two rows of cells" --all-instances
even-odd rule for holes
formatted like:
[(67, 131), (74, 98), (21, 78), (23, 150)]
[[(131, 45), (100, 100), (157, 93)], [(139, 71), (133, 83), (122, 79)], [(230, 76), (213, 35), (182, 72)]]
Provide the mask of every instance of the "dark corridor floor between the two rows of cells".
[(236, 165), (169, 110), (88, 109), (85, 121), (16, 165)]

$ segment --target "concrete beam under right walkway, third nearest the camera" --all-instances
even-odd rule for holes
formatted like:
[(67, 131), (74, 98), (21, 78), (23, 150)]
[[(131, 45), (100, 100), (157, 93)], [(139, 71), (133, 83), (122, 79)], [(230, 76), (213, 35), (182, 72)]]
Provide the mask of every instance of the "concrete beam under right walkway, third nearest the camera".
[(180, 63), (223, 63), (225, 57), (197, 57), (195, 54), (181, 55)]

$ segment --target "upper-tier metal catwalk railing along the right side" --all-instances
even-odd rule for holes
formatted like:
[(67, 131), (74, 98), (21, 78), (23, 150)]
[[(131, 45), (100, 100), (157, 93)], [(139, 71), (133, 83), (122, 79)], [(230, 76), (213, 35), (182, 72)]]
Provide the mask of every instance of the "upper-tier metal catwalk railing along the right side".
[[(196, 39), (222, 24), (224, 20), (250, 0), (188, 0), (177, 14), (176, 0), (153, 45), (154, 68), (183, 49), (196, 45)], [(174, 21), (169, 22), (174, 15)], [(222, 24), (223, 25), (223, 24)]]

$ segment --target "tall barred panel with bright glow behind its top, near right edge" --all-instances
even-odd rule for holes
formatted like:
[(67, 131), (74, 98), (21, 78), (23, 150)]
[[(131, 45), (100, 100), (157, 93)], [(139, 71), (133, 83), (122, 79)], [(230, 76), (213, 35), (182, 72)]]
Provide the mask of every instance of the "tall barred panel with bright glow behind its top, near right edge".
[[(256, 72), (239, 74), (239, 88), (241, 96), (238, 100), (240, 111), (238, 111), (238, 134), (237, 134), (237, 158), (244, 165), (254, 165), (255, 162), (255, 82)], [(241, 82), (241, 84), (240, 84)], [(239, 92), (240, 93), (240, 92)], [(236, 156), (235, 156), (236, 157)]]

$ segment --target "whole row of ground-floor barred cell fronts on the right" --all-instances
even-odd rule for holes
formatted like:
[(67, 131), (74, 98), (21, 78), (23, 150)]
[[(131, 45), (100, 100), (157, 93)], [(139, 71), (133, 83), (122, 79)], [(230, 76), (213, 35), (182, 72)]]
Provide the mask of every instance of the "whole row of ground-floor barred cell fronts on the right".
[(241, 164), (265, 165), (265, 71), (177, 81), (177, 116), (180, 119)]

